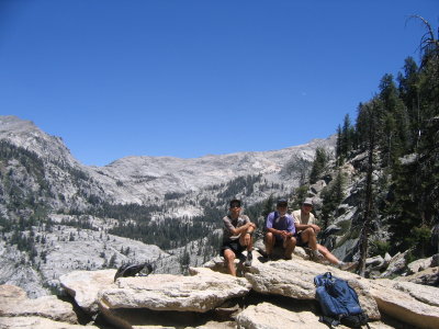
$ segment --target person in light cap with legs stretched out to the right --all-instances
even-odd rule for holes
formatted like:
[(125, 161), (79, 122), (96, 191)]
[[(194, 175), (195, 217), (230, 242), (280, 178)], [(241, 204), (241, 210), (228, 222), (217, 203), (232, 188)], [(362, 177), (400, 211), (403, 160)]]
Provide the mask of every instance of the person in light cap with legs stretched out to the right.
[(353, 270), (354, 263), (345, 263), (335, 257), (330, 251), (317, 243), (317, 234), (320, 227), (316, 225), (316, 219), (313, 209), (313, 200), (305, 198), (302, 207), (293, 212), (294, 225), (296, 229), (296, 246), (311, 249), (311, 259), (314, 261), (322, 261), (326, 258), (330, 263), (337, 265), (341, 270)]

